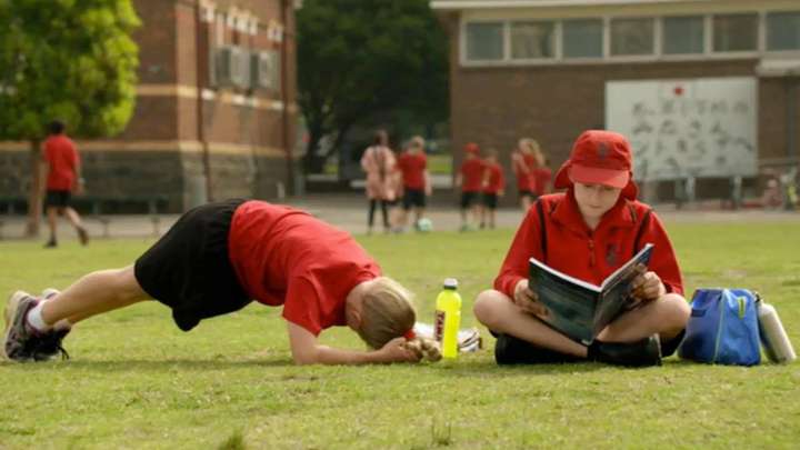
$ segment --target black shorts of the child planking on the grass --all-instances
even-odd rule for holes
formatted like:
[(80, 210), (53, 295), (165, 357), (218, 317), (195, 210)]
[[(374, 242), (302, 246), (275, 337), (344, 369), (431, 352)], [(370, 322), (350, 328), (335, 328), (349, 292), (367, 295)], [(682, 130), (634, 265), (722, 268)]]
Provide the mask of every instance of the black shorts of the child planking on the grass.
[(172, 319), (183, 331), (251, 301), (228, 257), (231, 220), (243, 201), (209, 203), (188, 211), (136, 261), (139, 286), (172, 309)]

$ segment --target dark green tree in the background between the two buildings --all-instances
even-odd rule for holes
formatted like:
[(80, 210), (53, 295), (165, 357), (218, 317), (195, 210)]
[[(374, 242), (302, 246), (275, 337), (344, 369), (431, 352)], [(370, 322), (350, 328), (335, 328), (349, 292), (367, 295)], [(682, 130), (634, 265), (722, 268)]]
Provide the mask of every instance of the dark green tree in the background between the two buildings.
[[(308, 172), (371, 117), (410, 109), (421, 121), (446, 118), (447, 37), (428, 0), (307, 0), (297, 22)], [(323, 153), (327, 134), (333, 146)]]

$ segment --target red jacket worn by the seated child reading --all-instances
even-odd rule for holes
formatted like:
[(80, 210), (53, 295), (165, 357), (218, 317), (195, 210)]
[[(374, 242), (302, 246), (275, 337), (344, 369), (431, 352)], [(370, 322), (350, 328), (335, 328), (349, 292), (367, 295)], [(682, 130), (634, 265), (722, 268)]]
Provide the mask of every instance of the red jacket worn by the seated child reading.
[[(517, 283), (528, 278), (528, 260), (533, 257), (574, 278), (600, 284), (640, 250), (634, 241), (650, 207), (620, 197), (617, 204), (591, 231), (583, 221), (570, 189), (539, 198), (544, 211), (547, 259), (542, 253), (538, 208), (528, 211), (509, 249), (494, 289), (513, 297)], [(667, 292), (683, 294), (683, 282), (667, 231), (654, 212), (642, 229), (639, 247), (654, 244), (649, 270), (656, 272)]]

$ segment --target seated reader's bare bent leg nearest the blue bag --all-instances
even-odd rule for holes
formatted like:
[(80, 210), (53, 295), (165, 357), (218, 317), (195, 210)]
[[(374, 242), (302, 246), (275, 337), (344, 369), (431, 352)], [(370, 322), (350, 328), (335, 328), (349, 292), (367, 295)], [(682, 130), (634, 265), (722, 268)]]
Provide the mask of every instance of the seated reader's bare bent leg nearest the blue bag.
[(686, 328), (691, 308), (683, 297), (667, 293), (658, 300), (622, 314), (604, 330), (598, 339), (603, 342), (633, 342), (659, 333), (661, 341), (669, 341)]

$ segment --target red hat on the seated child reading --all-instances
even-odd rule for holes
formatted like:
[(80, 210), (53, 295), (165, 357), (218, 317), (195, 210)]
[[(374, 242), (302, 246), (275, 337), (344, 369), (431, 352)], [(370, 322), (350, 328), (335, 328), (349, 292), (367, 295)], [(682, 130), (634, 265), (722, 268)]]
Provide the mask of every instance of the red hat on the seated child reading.
[(553, 186), (571, 188), (572, 180), (610, 186), (622, 189), (622, 197), (633, 200), (639, 188), (633, 182), (632, 166), (630, 143), (624, 136), (603, 130), (583, 131), (572, 146), (569, 159), (556, 173)]

